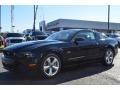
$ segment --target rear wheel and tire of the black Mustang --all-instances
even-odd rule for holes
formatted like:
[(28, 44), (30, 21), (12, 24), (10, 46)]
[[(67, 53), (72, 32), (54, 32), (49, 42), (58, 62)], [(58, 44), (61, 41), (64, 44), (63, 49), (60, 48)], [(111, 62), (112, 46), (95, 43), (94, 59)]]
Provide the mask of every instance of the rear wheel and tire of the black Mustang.
[(114, 60), (114, 52), (111, 48), (108, 48), (104, 54), (102, 63), (104, 66), (111, 66), (113, 65), (113, 60)]

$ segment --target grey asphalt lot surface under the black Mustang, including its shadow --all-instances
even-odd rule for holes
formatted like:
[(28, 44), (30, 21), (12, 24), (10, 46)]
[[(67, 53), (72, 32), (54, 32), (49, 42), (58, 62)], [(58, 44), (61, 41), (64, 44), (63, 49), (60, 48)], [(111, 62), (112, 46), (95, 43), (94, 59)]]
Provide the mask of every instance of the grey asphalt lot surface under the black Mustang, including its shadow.
[(5, 70), (1, 63), (0, 53), (0, 85), (117, 85), (120, 84), (120, 49), (115, 57), (114, 65), (105, 67), (102, 64), (87, 64), (66, 67), (53, 79), (41, 79), (15, 75)]

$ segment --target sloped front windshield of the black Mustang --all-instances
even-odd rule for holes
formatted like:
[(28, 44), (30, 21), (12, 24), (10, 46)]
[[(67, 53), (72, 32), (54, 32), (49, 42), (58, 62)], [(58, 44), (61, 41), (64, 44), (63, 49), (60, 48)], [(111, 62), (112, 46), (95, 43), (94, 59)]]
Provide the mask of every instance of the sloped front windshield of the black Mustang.
[(75, 31), (73, 30), (59, 31), (47, 37), (46, 40), (69, 41), (74, 33)]

